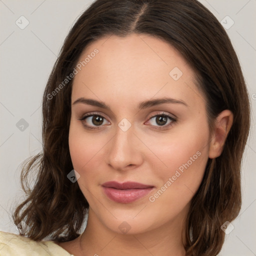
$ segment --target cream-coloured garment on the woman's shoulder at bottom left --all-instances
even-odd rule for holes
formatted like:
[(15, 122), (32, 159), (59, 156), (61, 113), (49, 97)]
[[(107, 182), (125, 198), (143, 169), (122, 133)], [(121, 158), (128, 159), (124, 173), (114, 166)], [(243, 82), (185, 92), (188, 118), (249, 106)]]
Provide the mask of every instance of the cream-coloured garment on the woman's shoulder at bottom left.
[(18, 234), (0, 231), (0, 256), (73, 256), (53, 241), (36, 242)]

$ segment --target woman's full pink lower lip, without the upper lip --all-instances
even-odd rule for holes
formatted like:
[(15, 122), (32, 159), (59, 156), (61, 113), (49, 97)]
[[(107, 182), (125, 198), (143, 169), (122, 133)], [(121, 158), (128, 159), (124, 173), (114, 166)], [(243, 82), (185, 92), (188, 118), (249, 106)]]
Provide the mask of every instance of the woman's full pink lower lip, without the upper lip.
[(133, 189), (116, 189), (103, 186), (104, 193), (115, 202), (129, 203), (148, 194), (153, 187), (148, 188), (133, 188)]

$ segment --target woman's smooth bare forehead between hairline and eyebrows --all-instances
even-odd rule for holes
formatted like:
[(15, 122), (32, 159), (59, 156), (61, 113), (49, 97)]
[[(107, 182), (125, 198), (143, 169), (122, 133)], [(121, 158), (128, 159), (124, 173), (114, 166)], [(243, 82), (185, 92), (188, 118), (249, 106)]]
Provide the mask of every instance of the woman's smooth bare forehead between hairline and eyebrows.
[(141, 101), (153, 96), (189, 101), (200, 94), (194, 72), (179, 52), (150, 35), (105, 36), (91, 42), (77, 63), (81, 70), (74, 77), (72, 101), (85, 95), (104, 101)]

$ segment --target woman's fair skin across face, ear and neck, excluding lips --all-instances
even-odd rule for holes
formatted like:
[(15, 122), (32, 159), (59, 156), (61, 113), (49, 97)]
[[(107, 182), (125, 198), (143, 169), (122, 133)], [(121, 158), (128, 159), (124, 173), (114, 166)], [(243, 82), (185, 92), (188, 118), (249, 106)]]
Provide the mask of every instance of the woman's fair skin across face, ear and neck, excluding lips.
[[(209, 133), (205, 99), (192, 68), (158, 38), (107, 36), (92, 42), (80, 60), (95, 48), (99, 52), (73, 80), (69, 129), (70, 155), (80, 175), (77, 182), (89, 203), (88, 222), (79, 237), (57, 244), (75, 256), (183, 256), (191, 198), (208, 158), (221, 154), (233, 115), (222, 111), (213, 134)], [(177, 80), (169, 75), (174, 67), (183, 73)], [(76, 101), (82, 97), (104, 102), (109, 109)], [(166, 97), (180, 102), (138, 108), (142, 101)], [(92, 117), (79, 120), (91, 112), (102, 116), (103, 122)], [(123, 118), (131, 125), (125, 131), (118, 126)], [(181, 172), (185, 163), (188, 166)], [(111, 180), (150, 184), (152, 190), (133, 202), (120, 203), (103, 192), (101, 185)]]

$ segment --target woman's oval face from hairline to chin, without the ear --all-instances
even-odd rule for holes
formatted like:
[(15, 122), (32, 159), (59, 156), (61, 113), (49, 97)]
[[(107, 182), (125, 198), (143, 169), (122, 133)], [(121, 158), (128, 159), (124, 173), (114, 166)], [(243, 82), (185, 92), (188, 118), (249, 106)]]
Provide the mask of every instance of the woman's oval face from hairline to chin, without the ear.
[(210, 141), (193, 70), (145, 34), (94, 41), (76, 67), (69, 149), (89, 218), (119, 233), (180, 228)]

